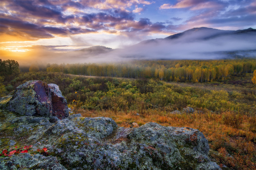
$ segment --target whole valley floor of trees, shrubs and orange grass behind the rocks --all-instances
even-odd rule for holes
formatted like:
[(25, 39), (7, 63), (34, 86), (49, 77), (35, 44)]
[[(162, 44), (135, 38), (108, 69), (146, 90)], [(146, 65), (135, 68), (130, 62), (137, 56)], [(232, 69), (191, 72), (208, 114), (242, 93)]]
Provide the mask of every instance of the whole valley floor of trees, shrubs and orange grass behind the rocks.
[[(209, 156), (223, 169), (256, 168), (254, 58), (29, 67), (0, 61), (1, 97), (28, 80), (54, 83), (71, 114), (111, 117), (125, 127), (157, 122), (196, 128), (209, 141)], [(182, 112), (186, 107), (196, 111)]]

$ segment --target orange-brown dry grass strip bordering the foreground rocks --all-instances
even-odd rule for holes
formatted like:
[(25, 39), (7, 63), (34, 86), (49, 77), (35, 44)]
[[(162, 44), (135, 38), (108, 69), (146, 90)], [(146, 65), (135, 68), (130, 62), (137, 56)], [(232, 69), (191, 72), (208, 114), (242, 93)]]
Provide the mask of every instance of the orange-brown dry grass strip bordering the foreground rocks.
[(219, 165), (225, 164), (233, 169), (256, 169), (255, 117), (229, 111), (215, 114), (206, 109), (198, 110), (193, 114), (171, 114), (149, 109), (143, 115), (136, 115), (136, 111), (77, 109), (75, 113), (81, 113), (83, 117), (111, 117), (123, 127), (132, 127), (133, 122), (140, 126), (157, 122), (162, 126), (199, 129), (209, 141), (209, 156)]

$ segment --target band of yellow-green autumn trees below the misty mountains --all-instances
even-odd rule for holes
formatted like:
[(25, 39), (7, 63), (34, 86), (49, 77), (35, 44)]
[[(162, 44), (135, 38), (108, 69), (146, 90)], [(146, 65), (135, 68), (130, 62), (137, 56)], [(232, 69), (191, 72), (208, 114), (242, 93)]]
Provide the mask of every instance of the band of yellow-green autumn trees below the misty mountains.
[[(32, 65), (29, 71), (38, 71)], [(37, 67), (38, 68), (38, 67)], [(141, 60), (130, 63), (47, 64), (47, 72), (84, 76), (157, 78), (176, 82), (223, 81), (231, 75), (253, 73), (256, 59), (236, 60)]]

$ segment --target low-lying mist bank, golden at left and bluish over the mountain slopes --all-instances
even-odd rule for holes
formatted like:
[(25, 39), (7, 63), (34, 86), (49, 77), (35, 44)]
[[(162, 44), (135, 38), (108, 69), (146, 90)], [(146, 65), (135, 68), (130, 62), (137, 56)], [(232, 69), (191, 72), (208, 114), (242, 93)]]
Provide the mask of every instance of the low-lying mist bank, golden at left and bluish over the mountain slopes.
[[(214, 29), (215, 30), (215, 29)], [(223, 31), (223, 30), (222, 30)], [(208, 32), (209, 33), (209, 32)], [(255, 31), (243, 34), (214, 36), (213, 32), (183, 34), (175, 39), (146, 40), (125, 49), (102, 46), (84, 50), (54, 53), (46, 48), (32, 50), (30, 56), (20, 58), (24, 63), (93, 63), (126, 62), (130, 60), (155, 59), (224, 59), (234, 57), (256, 57)], [(199, 36), (200, 35), (200, 36)], [(19, 62), (19, 60), (17, 60)]]

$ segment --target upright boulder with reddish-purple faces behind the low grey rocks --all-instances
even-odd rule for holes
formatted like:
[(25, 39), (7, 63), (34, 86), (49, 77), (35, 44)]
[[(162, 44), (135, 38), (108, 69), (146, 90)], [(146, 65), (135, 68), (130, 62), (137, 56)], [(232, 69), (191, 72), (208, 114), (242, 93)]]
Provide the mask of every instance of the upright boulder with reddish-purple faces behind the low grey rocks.
[(0, 108), (26, 116), (68, 117), (67, 101), (55, 84), (40, 80), (19, 85), (8, 96), (0, 98)]

